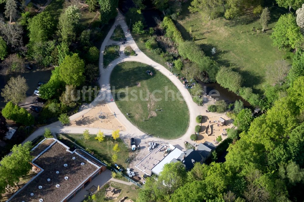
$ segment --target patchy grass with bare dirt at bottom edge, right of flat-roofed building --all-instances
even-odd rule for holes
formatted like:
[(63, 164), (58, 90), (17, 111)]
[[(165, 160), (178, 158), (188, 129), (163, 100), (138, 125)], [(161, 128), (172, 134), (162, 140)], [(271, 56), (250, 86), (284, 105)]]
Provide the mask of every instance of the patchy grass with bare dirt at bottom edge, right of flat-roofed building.
[(122, 197), (128, 197), (126, 200), (133, 200), (136, 201), (138, 198), (138, 194), (140, 192), (140, 188), (136, 187), (135, 185), (125, 185), (117, 182), (110, 182), (109, 185), (111, 187), (115, 187), (121, 192), (119, 193), (119, 196), (117, 199), (106, 199), (105, 198), (105, 189), (106, 186), (103, 186), (95, 195), (96, 195), (96, 200), (95, 202), (103, 202), (103, 201), (112, 201), (112, 202), (118, 202)]

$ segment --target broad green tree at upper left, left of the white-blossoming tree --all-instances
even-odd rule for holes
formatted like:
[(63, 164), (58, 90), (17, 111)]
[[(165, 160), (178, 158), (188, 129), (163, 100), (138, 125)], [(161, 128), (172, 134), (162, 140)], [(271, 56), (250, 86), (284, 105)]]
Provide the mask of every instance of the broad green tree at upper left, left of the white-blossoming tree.
[(29, 42), (44, 42), (54, 33), (54, 18), (44, 11), (29, 19)]

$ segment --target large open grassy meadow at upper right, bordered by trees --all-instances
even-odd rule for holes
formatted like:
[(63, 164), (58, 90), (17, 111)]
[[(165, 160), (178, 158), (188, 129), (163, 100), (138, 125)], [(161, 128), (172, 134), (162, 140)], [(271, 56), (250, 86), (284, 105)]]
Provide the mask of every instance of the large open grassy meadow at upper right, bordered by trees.
[[(257, 33), (261, 28), (259, 17), (247, 11), (244, 15), (233, 20), (218, 17), (209, 22), (204, 22), (199, 13), (189, 13), (188, 5), (183, 6), (183, 13), (178, 17), (177, 27), (184, 39), (191, 40), (189, 29), (195, 42), (201, 46), (206, 55), (213, 56), (216, 61), (240, 72), (245, 78), (245, 86), (254, 87), (256, 92), (263, 91), (265, 84), (265, 66), (276, 60), (282, 60), (285, 51), (273, 47), (269, 37), (272, 30)], [(220, 7), (221, 8), (221, 7)], [(222, 8), (221, 8), (222, 9)], [(281, 10), (270, 9), (273, 28)], [(211, 49), (216, 48), (216, 54), (211, 54)]]

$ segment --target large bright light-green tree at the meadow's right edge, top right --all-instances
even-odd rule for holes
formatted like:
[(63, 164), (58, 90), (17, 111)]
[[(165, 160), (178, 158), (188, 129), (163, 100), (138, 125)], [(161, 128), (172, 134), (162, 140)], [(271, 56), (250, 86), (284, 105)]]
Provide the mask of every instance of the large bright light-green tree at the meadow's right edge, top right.
[(300, 27), (292, 13), (281, 15), (273, 30), (271, 33), (273, 45), (279, 49), (288, 46), (297, 48), (303, 40)]

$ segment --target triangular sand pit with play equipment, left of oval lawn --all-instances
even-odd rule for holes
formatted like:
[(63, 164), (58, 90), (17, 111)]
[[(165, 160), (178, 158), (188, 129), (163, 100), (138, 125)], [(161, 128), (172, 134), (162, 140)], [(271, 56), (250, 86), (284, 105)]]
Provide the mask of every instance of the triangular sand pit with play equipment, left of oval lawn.
[[(98, 116), (102, 113), (101, 118)], [(123, 130), (126, 128), (115, 118), (106, 104), (93, 107), (81, 117), (71, 120), (72, 127), (105, 128), (111, 130)]]

